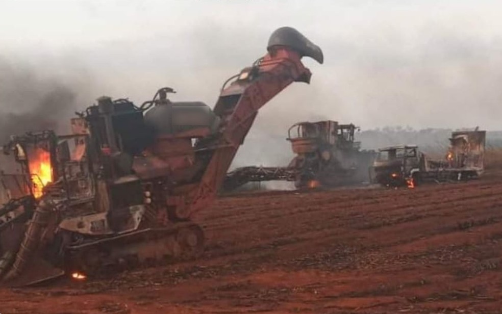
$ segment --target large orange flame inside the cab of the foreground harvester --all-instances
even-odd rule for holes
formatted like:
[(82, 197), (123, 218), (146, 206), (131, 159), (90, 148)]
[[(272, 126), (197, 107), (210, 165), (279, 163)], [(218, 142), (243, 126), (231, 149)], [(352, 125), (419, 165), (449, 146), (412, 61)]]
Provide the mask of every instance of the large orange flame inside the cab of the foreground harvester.
[(29, 164), (33, 195), (39, 198), (42, 196), (43, 187), (52, 181), (51, 154), (42, 148), (36, 148), (30, 156)]

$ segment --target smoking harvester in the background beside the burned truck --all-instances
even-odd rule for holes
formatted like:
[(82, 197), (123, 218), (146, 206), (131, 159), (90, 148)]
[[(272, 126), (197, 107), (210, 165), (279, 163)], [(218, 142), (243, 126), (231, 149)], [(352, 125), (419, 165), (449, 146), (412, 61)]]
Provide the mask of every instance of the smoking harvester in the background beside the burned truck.
[(337, 121), (300, 122), (288, 130), (295, 153), (286, 167), (242, 167), (227, 174), (223, 188), (231, 191), (247, 182), (294, 181), (297, 189), (339, 187), (369, 182), (375, 152), (361, 150), (354, 124)]

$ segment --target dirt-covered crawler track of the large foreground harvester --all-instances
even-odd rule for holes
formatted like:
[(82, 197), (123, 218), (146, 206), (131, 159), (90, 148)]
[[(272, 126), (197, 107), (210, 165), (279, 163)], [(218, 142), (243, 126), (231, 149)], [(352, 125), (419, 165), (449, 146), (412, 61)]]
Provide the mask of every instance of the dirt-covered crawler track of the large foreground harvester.
[(202, 228), (192, 222), (183, 222), (70, 246), (66, 251), (66, 265), (67, 272), (104, 277), (124, 270), (195, 258), (203, 250)]

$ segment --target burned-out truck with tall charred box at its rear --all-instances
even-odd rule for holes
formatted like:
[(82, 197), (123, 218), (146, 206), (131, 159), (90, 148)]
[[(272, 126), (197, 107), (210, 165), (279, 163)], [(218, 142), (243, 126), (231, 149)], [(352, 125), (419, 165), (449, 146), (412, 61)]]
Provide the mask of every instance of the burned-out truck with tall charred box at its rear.
[(408, 186), (424, 182), (468, 180), (484, 171), (486, 131), (456, 131), (449, 138), (444, 159), (433, 160), (417, 145), (382, 148), (371, 169), (372, 181), (387, 187)]

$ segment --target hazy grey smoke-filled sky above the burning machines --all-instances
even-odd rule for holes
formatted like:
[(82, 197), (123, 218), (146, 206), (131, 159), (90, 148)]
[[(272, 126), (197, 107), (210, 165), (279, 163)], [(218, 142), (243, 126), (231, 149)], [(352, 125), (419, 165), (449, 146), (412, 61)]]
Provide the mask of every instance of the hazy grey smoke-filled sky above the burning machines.
[[(288, 159), (287, 128), (305, 120), (500, 129), (501, 9), (496, 1), (3, 1), (0, 57), (16, 67), (4, 71), (0, 60), (0, 122), (42, 117), (37, 108), (53, 90), (66, 97), (51, 108), (58, 116), (103, 94), (141, 102), (162, 86), (178, 91), (173, 100), (212, 106), (224, 80), (290, 25), (323, 49), (325, 63), (306, 60), (311, 85), (289, 87), (260, 112), (236, 164), (262, 163), (268, 148), (267, 162)], [(27, 87), (26, 71), (40, 85)]]

